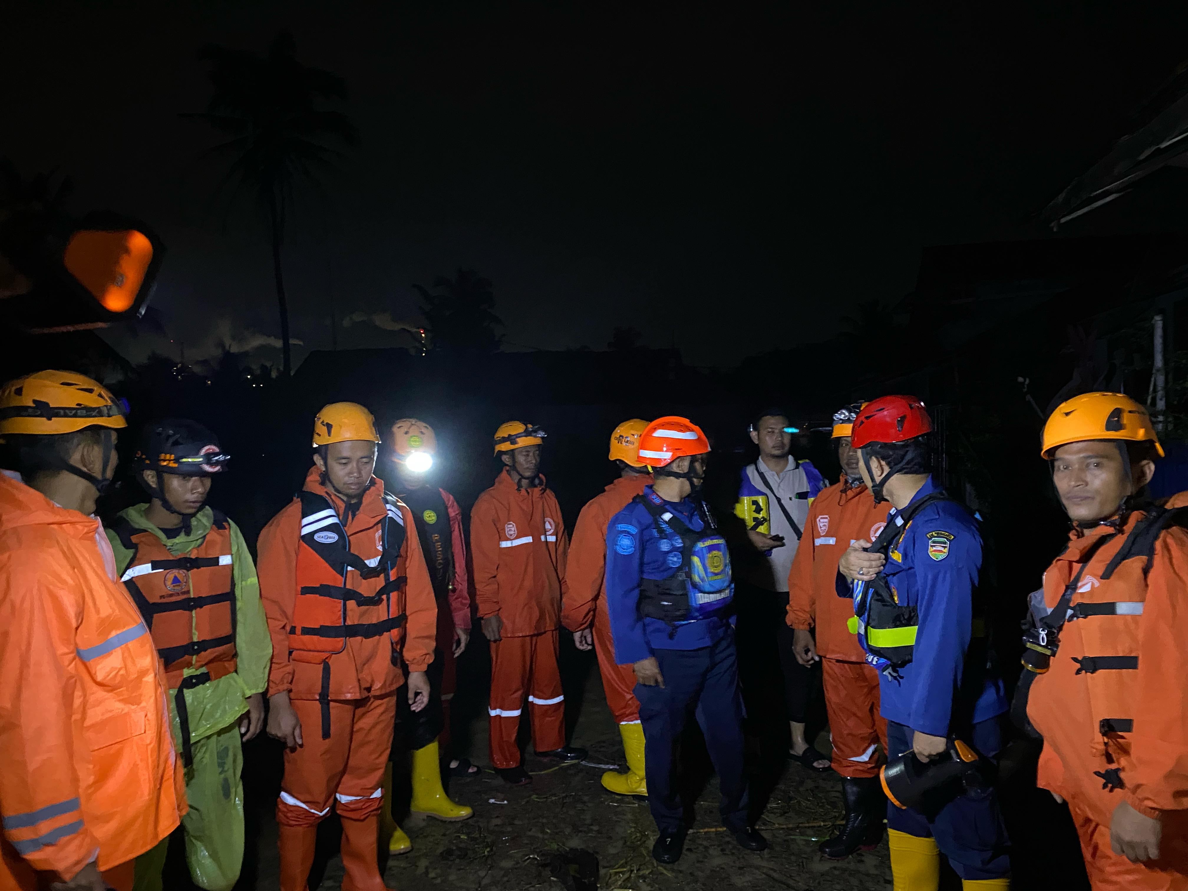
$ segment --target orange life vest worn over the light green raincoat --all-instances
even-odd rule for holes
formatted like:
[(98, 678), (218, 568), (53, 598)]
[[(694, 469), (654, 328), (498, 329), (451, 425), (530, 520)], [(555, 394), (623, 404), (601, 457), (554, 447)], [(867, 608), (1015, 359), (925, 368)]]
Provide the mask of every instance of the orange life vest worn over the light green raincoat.
[(234, 671), (235, 575), (227, 517), (214, 511), (202, 544), (181, 556), (125, 519), (113, 531), (133, 551), (120, 581), (152, 632), (170, 689), (179, 687), (188, 668), (206, 668), (209, 680)]

